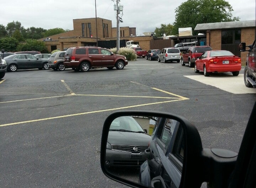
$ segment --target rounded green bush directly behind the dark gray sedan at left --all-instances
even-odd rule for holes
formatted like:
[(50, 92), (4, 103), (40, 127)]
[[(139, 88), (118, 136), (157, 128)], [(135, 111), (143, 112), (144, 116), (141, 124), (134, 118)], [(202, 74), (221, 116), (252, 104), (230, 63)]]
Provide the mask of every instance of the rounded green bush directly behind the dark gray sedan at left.
[(36, 39), (27, 39), (25, 43), (20, 43), (17, 46), (17, 51), (39, 51), (41, 53), (49, 53), (44, 41)]

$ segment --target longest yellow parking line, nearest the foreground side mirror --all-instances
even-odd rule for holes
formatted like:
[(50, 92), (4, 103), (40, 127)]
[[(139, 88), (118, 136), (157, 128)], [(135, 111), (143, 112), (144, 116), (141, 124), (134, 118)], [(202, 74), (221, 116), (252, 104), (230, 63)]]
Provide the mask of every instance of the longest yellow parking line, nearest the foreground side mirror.
[(93, 114), (93, 113), (113, 111), (113, 110), (122, 110), (122, 109), (126, 109), (126, 108), (134, 108), (134, 107), (139, 107), (139, 106), (148, 106), (148, 105), (161, 104), (161, 103), (167, 103), (167, 102), (175, 102), (175, 101), (182, 101), (182, 100), (186, 100), (186, 99), (181, 98), (181, 99), (172, 100), (172, 101), (153, 102), (153, 103), (146, 103), (146, 104), (140, 104), (140, 105), (134, 105), (134, 106), (125, 106), (125, 107), (120, 107), (120, 108), (112, 108), (112, 109), (97, 110), (97, 111), (84, 112), (84, 113), (78, 113), (78, 114), (62, 115), (62, 116), (51, 117), (51, 118), (34, 119), (34, 120), (23, 121), (23, 122), (16, 122), (16, 123), (7, 123), (7, 124), (0, 125), (0, 127), (9, 126), (9, 125), (18, 125), (18, 124), (22, 124), (22, 123), (39, 122), (39, 121), (45, 121), (45, 120), (50, 120), (50, 119), (66, 118), (66, 117), (71, 117), (71, 116), (76, 116), (76, 115)]

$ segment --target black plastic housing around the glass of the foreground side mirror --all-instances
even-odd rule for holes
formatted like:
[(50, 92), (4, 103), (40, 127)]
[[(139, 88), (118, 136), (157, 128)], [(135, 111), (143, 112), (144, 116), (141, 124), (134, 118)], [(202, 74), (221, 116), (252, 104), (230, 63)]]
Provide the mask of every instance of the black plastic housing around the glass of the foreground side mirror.
[[(151, 112), (151, 111), (119, 111), (110, 114), (105, 120), (102, 137), (101, 137), (101, 169), (102, 172), (112, 180), (118, 181), (122, 184), (131, 186), (131, 187), (146, 187), (142, 184), (132, 182), (130, 180), (123, 179), (121, 177), (115, 176), (106, 169), (105, 165), (105, 155), (106, 155), (106, 145), (108, 140), (109, 127), (114, 119), (120, 116), (150, 116), (150, 117), (163, 117), (168, 119), (173, 119), (180, 122), (184, 130), (184, 159), (183, 159), (183, 168), (180, 180), (180, 188), (199, 188), (204, 180), (204, 177), (201, 176), (201, 171), (203, 171), (203, 166), (201, 166), (201, 152), (203, 151), (201, 138), (195, 126), (189, 123), (183, 117), (168, 114), (165, 112)], [(147, 150), (146, 150), (147, 151)], [(150, 151), (149, 155), (150, 155)], [(149, 156), (150, 157), (150, 156)], [(195, 172), (195, 169), (197, 171)], [(198, 169), (200, 169), (198, 171)], [(159, 182), (159, 180), (156, 180)]]

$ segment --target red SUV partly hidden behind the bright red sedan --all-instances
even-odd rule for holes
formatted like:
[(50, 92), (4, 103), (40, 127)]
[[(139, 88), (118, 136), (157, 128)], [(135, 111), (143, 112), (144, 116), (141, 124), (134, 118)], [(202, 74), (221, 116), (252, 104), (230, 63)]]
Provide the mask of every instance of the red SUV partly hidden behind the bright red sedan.
[(193, 67), (197, 58), (199, 58), (205, 51), (211, 51), (210, 46), (193, 46), (182, 54), (181, 65), (185, 66), (186, 63), (189, 64), (189, 67)]

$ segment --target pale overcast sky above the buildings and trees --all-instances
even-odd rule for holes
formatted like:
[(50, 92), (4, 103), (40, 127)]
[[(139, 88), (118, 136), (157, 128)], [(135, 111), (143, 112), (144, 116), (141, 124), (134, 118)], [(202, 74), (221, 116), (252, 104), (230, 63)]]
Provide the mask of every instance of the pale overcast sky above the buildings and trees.
[[(115, 0), (116, 1), (116, 0)], [(120, 0), (123, 23), (120, 27), (135, 27), (138, 36), (154, 32), (161, 24), (175, 21), (175, 8), (186, 0)], [(240, 20), (256, 19), (256, 0), (227, 0)], [(95, 0), (8, 0), (1, 5), (0, 24), (19, 21), (29, 27), (73, 30), (73, 19), (95, 17)], [(96, 0), (97, 17), (112, 20), (117, 26), (114, 2)]]

